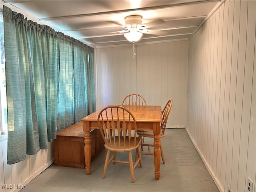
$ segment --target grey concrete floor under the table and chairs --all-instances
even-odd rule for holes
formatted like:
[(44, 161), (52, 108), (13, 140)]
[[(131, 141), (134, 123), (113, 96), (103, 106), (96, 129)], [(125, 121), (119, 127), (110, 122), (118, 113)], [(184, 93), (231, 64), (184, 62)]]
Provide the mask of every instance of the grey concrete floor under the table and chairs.
[[(160, 164), (159, 180), (154, 178), (152, 155), (142, 156), (142, 168), (138, 164), (134, 169), (134, 183), (128, 164), (109, 164), (102, 179), (104, 149), (92, 161), (90, 175), (84, 169), (51, 165), (20, 192), (219, 192), (185, 129), (167, 129), (161, 141), (166, 164)], [(128, 159), (128, 154), (118, 157)]]

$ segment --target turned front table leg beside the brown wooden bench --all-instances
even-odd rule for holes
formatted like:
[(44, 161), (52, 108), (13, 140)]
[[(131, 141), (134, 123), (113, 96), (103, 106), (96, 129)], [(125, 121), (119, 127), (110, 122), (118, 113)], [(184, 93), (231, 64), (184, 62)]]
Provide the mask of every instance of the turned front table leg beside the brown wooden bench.
[(86, 175), (90, 175), (91, 172), (91, 133), (90, 122), (83, 122), (84, 130), (84, 161)]

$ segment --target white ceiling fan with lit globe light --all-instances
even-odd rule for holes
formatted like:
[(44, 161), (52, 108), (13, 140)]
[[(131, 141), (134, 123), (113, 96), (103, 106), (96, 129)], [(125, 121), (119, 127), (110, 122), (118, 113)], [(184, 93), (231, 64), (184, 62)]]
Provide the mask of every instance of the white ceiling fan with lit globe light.
[(154, 35), (166, 35), (165, 31), (150, 30), (148, 28), (155, 26), (157, 24), (163, 23), (164, 20), (158, 19), (153, 22), (142, 24), (142, 16), (140, 15), (130, 15), (125, 18), (126, 30), (119, 31), (119, 33), (124, 33), (126, 39), (130, 42), (136, 42), (140, 40), (142, 34), (154, 34)]

